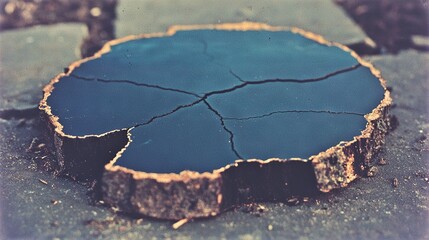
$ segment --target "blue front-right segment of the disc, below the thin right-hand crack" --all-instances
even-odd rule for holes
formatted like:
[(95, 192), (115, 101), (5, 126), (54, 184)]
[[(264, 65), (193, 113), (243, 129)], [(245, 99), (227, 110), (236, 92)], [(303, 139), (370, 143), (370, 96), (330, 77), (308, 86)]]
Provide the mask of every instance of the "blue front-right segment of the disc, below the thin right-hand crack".
[(234, 133), (235, 149), (244, 159), (305, 159), (337, 145), (340, 139), (353, 140), (366, 120), (355, 114), (284, 112), (248, 120), (226, 120), (225, 124)]

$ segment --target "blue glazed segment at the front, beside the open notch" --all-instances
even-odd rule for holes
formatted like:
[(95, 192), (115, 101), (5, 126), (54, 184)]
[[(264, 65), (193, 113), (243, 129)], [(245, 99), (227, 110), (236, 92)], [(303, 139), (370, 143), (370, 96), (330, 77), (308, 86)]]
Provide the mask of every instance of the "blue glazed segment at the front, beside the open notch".
[(146, 172), (207, 171), (236, 159), (230, 135), (204, 103), (131, 130), (132, 143), (117, 165)]

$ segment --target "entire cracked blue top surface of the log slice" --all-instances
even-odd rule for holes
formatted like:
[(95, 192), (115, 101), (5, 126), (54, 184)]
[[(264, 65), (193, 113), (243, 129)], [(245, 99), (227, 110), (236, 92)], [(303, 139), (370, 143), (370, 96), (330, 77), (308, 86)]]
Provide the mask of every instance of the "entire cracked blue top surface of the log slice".
[(116, 165), (179, 173), (309, 158), (366, 126), (380, 81), (350, 53), (288, 31), (179, 31), (123, 42), (54, 84), (63, 132), (132, 128)]

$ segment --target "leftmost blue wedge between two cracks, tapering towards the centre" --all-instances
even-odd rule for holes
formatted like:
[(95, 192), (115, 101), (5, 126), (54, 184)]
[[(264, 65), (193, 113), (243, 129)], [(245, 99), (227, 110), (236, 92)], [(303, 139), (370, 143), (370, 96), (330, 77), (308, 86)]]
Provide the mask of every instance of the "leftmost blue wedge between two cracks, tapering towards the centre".
[(194, 100), (158, 88), (63, 77), (48, 104), (60, 118), (64, 133), (83, 136), (129, 128)]

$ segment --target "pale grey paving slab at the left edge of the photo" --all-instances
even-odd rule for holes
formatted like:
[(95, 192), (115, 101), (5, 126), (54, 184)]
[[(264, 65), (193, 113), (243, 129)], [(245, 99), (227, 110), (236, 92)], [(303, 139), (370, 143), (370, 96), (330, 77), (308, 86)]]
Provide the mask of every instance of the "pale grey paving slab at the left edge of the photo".
[(38, 104), (42, 87), (79, 59), (83, 24), (36, 26), (0, 33), (0, 109)]

